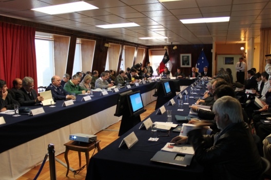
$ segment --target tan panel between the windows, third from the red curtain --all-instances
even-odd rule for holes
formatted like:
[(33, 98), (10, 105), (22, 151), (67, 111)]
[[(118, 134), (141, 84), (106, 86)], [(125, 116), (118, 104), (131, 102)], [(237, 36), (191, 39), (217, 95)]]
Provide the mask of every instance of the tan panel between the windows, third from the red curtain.
[(110, 43), (110, 48), (108, 48), (109, 70), (117, 72), (120, 53), (121, 45)]

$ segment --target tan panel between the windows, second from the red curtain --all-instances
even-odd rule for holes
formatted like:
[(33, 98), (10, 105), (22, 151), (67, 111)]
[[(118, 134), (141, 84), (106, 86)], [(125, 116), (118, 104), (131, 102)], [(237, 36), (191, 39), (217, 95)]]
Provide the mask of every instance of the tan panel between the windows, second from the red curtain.
[(94, 56), (95, 41), (89, 39), (81, 39), (81, 54), (82, 54), (82, 71), (92, 72), (92, 62)]

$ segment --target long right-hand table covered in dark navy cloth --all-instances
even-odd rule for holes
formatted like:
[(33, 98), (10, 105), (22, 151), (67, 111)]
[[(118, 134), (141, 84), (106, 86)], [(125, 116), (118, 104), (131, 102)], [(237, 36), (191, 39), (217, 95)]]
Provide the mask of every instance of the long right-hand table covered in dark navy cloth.
[[(173, 123), (180, 124), (175, 120), (175, 115), (189, 115), (190, 109), (188, 106), (197, 101), (191, 97), (200, 96), (200, 94), (206, 90), (205, 87), (206, 85), (204, 85), (202, 89), (199, 88), (197, 94), (193, 94), (192, 96), (189, 94), (189, 104), (183, 104), (182, 111), (178, 110), (181, 109), (178, 104), (179, 99), (176, 99), (178, 96), (173, 98), (176, 102), (175, 105), (164, 104), (166, 109), (172, 110)], [(186, 89), (187, 92), (190, 92), (188, 91), (190, 86)], [(182, 99), (185, 101), (184, 97)], [(166, 112), (163, 115), (157, 115), (158, 110), (159, 109), (154, 111), (154, 113), (146, 119), (151, 118), (152, 122), (166, 122)], [(158, 137), (159, 140), (157, 142), (148, 141), (151, 136), (151, 130), (150, 128), (146, 130), (144, 127), (139, 129), (142, 123), (143, 121), (123, 134), (118, 140), (115, 140), (106, 148), (92, 156), (87, 169), (86, 179), (142, 179), (147, 177), (151, 179), (202, 178), (203, 167), (199, 165), (195, 159), (192, 159), (190, 166), (187, 167), (150, 161), (154, 154), (160, 151), (166, 143), (170, 142), (172, 138), (179, 136), (179, 132), (172, 132), (173, 128), (171, 128), (169, 136)], [(138, 142), (130, 149), (128, 149), (126, 145), (119, 147), (122, 140), (131, 132), (135, 133)]]

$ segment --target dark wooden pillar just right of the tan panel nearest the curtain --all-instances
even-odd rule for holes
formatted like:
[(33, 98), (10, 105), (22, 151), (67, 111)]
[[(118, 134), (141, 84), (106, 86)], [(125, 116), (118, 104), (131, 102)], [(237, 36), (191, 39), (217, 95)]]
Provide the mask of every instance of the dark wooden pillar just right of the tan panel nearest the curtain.
[(72, 70), (73, 70), (73, 62), (74, 62), (74, 55), (75, 55), (75, 48), (76, 48), (76, 39), (77, 39), (77, 37), (75, 35), (71, 36), (70, 46), (69, 46), (69, 51), (68, 51), (68, 60), (67, 60), (66, 72), (70, 76), (72, 76)]

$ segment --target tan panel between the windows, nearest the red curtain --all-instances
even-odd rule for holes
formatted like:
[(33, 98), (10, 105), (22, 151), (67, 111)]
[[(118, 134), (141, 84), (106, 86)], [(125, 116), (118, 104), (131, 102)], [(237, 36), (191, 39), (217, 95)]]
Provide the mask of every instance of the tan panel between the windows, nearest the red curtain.
[(61, 78), (66, 73), (69, 36), (53, 35), (54, 39), (54, 74)]

